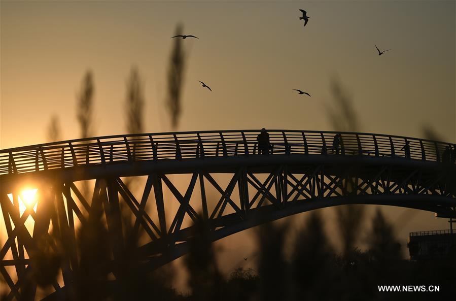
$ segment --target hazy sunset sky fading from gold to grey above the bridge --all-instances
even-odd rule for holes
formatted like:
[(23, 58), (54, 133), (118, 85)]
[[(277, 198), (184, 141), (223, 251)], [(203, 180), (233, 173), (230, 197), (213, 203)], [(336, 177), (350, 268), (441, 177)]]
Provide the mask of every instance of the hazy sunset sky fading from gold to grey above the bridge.
[[(298, 9), (310, 17), (306, 27)], [(179, 22), (200, 38), (183, 41), (179, 130), (332, 130), (325, 104), (337, 76), (360, 131), (423, 137), (429, 126), (454, 143), (455, 15), (454, 1), (1, 1), (0, 147), (46, 142), (53, 114), (62, 139), (78, 138), (76, 95), (88, 69), (95, 135), (125, 133), (133, 65), (145, 88), (145, 131), (170, 130), (166, 72)], [(374, 44), (392, 50), (378, 56)], [(390, 219), (404, 210), (388, 210)], [(419, 212), (399, 235), (428, 228), (447, 228), (446, 220)]]

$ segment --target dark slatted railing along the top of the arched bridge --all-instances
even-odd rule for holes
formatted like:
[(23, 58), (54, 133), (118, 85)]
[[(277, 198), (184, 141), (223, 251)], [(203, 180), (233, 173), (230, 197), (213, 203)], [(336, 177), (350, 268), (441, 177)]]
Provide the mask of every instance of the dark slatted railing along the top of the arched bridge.
[[(150, 133), (11, 148), (0, 150), (0, 175), (115, 162), (258, 155), (259, 133), (259, 130)], [(268, 133), (271, 155), (339, 154), (441, 162), (448, 158), (445, 147), (451, 145), (357, 132), (268, 130)], [(333, 144), (337, 134), (340, 134), (338, 148)], [(409, 154), (405, 151), (406, 143)]]

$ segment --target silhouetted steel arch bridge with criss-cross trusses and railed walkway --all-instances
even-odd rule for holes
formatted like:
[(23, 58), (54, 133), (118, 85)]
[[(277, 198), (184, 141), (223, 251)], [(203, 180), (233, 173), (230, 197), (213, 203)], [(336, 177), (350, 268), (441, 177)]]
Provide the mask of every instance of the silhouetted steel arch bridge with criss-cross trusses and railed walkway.
[[(37, 284), (29, 280), (37, 269), (33, 254), (51, 231), (67, 251), (63, 279), (53, 290), (71, 286), (79, 264), (78, 227), (94, 216), (106, 221), (113, 262), (121, 260), (129, 238), (143, 233), (134, 256), (144, 270), (185, 254), (198, 221), (215, 241), (344, 204), (456, 217), (455, 155), (445, 151), (454, 145), (372, 133), (268, 130), (270, 153), (259, 154), (259, 132), (121, 135), (1, 150), (0, 272), (7, 299), (36, 297)], [(30, 191), (36, 197), (27, 198)]]

